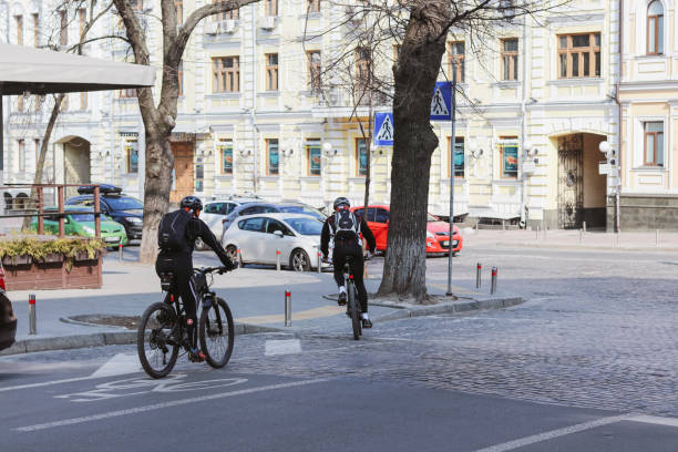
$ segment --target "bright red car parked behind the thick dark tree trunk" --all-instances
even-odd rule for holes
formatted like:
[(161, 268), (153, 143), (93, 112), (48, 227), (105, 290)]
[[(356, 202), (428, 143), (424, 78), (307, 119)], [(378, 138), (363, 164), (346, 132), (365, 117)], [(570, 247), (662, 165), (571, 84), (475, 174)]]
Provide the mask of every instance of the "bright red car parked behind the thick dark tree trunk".
[[(372, 229), (377, 239), (377, 250), (383, 251), (387, 246), (389, 236), (389, 219), (391, 209), (388, 205), (368, 206), (367, 215), (362, 206), (351, 208), (351, 212), (362, 215), (368, 222), (368, 226)], [(461, 251), (463, 239), (459, 233), (459, 228), (454, 226), (452, 233), (452, 253), (456, 255)], [(429, 214), (427, 223), (427, 253), (429, 254), (449, 254), (450, 253), (450, 224), (441, 222), (439, 218)]]

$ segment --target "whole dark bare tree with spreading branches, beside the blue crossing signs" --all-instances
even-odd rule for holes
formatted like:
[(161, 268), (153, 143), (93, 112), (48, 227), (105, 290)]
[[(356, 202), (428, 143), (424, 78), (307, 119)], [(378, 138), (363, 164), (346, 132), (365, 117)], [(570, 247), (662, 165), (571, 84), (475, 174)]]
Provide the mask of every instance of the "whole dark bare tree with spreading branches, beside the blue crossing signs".
[[(431, 157), (439, 140), (430, 122), (431, 96), (450, 34), (463, 35), (479, 59), (499, 27), (538, 18), (568, 0), (331, 0), (346, 11), (336, 23), (350, 42), (366, 37), (376, 55), (392, 61), (392, 72), (371, 81), (371, 90), (392, 102), (391, 218), (380, 296), (423, 302), (425, 230)], [(369, 27), (359, 28), (371, 19)], [(349, 30), (346, 32), (346, 30)], [(330, 30), (323, 30), (329, 33)], [(329, 66), (350, 59), (351, 47), (332, 49)], [(377, 65), (377, 64), (376, 64)], [(379, 70), (372, 71), (374, 74)], [(462, 93), (463, 94), (463, 93)], [(452, 218), (450, 219), (452, 220)]]

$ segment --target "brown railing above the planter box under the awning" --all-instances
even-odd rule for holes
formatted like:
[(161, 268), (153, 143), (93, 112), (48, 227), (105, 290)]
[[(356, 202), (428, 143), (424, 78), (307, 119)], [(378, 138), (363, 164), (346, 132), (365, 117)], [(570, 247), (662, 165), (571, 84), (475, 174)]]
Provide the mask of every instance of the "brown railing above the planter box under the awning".
[[(66, 187), (92, 187), (92, 194), (94, 198), (93, 210), (64, 210), (65, 206), (65, 189)], [(38, 217), (38, 234), (44, 234), (44, 217), (59, 217), (59, 237), (65, 237), (65, 216), (66, 215), (94, 215), (94, 236), (101, 237), (101, 188), (95, 184), (10, 184), (0, 185), (0, 191), (4, 192), (11, 188), (23, 188), (23, 189), (35, 189), (37, 197), (23, 197), (21, 198), (24, 207), (22, 214), (9, 214), (0, 215), (1, 218), (25, 218), (25, 217)], [(56, 189), (56, 210), (44, 212), (44, 191), (45, 188)], [(18, 198), (17, 198), (18, 199)], [(12, 212), (16, 209), (12, 208)]]

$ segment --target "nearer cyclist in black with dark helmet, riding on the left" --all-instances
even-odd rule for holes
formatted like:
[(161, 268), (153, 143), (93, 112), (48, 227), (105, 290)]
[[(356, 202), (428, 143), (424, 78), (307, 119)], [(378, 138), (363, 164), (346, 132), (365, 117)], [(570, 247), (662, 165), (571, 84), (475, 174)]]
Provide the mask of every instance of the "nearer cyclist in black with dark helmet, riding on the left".
[[(204, 353), (197, 348), (197, 329), (195, 328), (197, 325), (195, 284), (193, 281), (193, 248), (195, 240), (198, 237), (202, 238), (205, 245), (216, 253), (227, 270), (236, 268), (236, 265), (233, 264), (226, 251), (224, 251), (224, 248), (222, 248), (212, 230), (209, 230), (209, 227), (198, 218), (202, 209), (203, 203), (199, 198), (186, 196), (182, 199), (181, 209), (168, 214), (186, 217), (191, 215), (191, 217), (187, 218), (184, 234), (179, 233), (179, 236), (173, 237), (179, 244), (178, 248), (163, 249), (161, 247), (157, 260), (155, 261), (155, 271), (158, 276), (161, 273), (172, 271), (174, 274), (174, 292), (182, 297), (184, 309), (186, 310), (186, 330), (189, 340), (189, 343), (186, 343), (186, 346), (193, 361), (205, 359)], [(185, 214), (181, 210), (184, 210)], [(183, 219), (186, 219), (186, 217)], [(162, 230), (158, 228), (158, 243), (162, 243), (160, 239), (161, 233)]]

